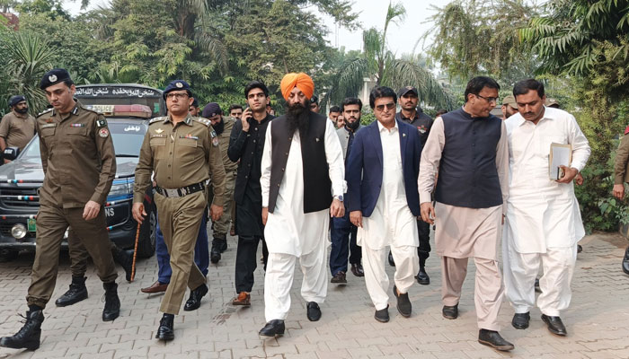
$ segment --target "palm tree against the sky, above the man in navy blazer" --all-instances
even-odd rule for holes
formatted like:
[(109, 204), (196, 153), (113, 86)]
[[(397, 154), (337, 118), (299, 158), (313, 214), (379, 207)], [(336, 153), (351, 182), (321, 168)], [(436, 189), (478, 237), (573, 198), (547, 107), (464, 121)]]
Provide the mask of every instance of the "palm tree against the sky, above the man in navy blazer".
[(453, 96), (435, 79), (425, 66), (421, 66), (420, 57), (396, 58), (386, 47), (386, 31), (389, 25), (403, 21), (406, 14), (402, 4), (389, 3), (385, 18), (385, 29), (376, 28), (363, 31), (363, 51), (359, 57), (350, 58), (339, 68), (330, 91), (322, 102), (341, 102), (345, 97), (356, 96), (363, 86), (364, 79), (373, 80), (377, 86), (389, 86), (394, 89), (412, 85), (417, 87), (422, 101), (430, 102), (435, 107), (452, 109)]

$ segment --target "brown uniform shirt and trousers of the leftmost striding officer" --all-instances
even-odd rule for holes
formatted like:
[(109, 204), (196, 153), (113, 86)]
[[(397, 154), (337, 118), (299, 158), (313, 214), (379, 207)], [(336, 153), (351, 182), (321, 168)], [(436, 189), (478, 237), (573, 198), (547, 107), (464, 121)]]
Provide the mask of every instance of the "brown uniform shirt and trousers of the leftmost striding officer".
[[(36, 128), (45, 177), (26, 300), (44, 308), (55, 289), (59, 250), (68, 226), (83, 242), (102, 282), (113, 283), (118, 276), (103, 207), (116, 176), (116, 156), (105, 118), (80, 103), (64, 115), (55, 109), (40, 114)], [(90, 200), (100, 204), (101, 210), (96, 218), (85, 221), (84, 206)]]

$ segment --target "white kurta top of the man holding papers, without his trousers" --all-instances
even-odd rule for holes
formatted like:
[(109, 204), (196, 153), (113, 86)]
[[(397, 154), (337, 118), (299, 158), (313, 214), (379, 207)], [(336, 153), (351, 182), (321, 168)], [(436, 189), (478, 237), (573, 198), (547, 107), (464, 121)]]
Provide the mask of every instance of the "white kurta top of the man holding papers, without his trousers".
[(574, 117), (545, 108), (537, 125), (520, 114), (505, 121), (509, 136), (509, 199), (505, 241), (519, 253), (572, 247), (585, 235), (574, 185), (550, 180), (550, 145), (571, 144), (571, 167), (581, 171), (589, 158), (588, 139)]

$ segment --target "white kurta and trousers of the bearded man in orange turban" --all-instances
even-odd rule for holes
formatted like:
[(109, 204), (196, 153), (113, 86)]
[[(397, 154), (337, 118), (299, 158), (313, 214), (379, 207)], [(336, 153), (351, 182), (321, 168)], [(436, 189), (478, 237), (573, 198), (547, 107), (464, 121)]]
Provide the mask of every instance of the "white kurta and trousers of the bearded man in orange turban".
[[(262, 206), (269, 206), (271, 168), (271, 126), (267, 128), (261, 162)], [(346, 184), (345, 165), (339, 136), (332, 125), (325, 124), (325, 157), (328, 162), (332, 195), (342, 196)], [(264, 227), (269, 249), (264, 276), (264, 314), (267, 321), (285, 320), (290, 309), (290, 287), (293, 285), (297, 258), (304, 280), (301, 296), (306, 302), (323, 303), (328, 290), (327, 248), (330, 209), (304, 214), (304, 169), (299, 131), (292, 136), (286, 171), (279, 186), (273, 213)]]

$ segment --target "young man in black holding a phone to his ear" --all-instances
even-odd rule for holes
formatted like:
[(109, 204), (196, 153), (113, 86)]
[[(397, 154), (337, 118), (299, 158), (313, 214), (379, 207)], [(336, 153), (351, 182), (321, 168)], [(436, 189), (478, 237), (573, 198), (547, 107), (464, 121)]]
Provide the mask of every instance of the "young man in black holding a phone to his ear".
[(233, 162), (239, 162), (235, 180), (234, 200), (235, 232), (238, 234), (238, 249), (235, 262), (235, 289), (237, 296), (234, 305), (250, 305), (253, 287), (253, 272), (258, 265), (256, 253), (262, 241), (262, 255), (266, 263), (267, 250), (262, 224), (262, 192), (260, 187), (260, 166), (264, 136), (270, 120), (266, 104), (269, 102), (269, 89), (264, 83), (252, 81), (244, 88), (247, 109), (235, 121), (229, 136), (227, 155)]

